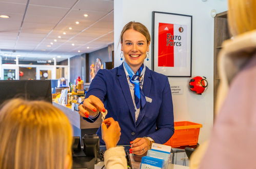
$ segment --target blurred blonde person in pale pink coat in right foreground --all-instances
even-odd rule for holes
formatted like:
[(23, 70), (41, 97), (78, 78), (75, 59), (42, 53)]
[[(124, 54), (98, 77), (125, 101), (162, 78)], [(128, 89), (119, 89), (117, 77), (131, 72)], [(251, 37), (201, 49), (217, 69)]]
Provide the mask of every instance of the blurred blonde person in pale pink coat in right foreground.
[(256, 167), (256, 0), (229, 0), (228, 24), (233, 37), (218, 60), (219, 113), (209, 143), (192, 154), (191, 168)]

